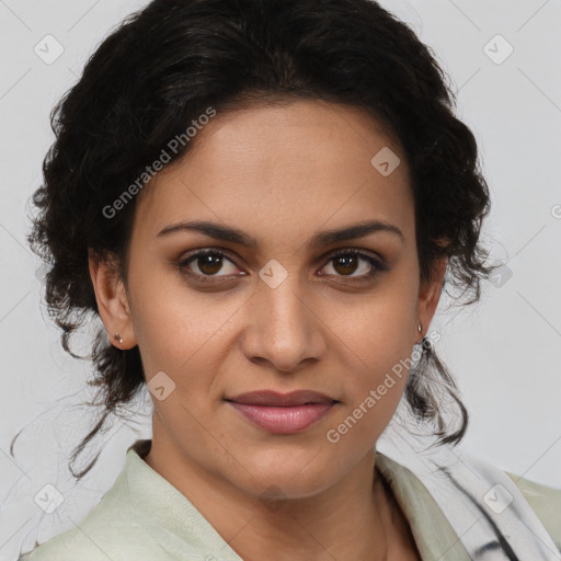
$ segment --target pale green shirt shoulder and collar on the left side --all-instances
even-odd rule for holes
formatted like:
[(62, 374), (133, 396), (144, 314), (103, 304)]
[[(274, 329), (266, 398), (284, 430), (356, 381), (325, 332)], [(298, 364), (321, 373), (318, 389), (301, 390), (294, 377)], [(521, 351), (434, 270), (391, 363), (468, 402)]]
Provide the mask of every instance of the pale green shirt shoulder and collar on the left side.
[[(203, 515), (139, 451), (136, 444), (129, 447), (115, 483), (79, 524), (67, 516), (70, 530), (18, 561), (207, 561), (209, 548), (228, 551)], [(241, 561), (233, 551), (224, 559)]]

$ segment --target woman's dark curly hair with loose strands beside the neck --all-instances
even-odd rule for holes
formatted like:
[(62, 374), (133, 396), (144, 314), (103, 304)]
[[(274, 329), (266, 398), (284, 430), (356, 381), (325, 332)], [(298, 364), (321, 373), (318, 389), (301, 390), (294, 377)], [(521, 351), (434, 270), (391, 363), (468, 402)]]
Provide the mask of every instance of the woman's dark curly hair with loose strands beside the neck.
[[(493, 271), (479, 244), (489, 188), (474, 136), (454, 116), (447, 77), (408, 25), (370, 0), (153, 0), (111, 32), (54, 107), (56, 140), (33, 195), (39, 211), (27, 241), (48, 266), (49, 314), (65, 351), (92, 360), (88, 383), (99, 389), (88, 404), (104, 407), (75, 460), (145, 383), (138, 346), (111, 345), (104, 329), (88, 356), (69, 346), (88, 316), (99, 316), (88, 256), (116, 257), (127, 278), (135, 199), (111, 219), (103, 209), (209, 106), (224, 113), (299, 99), (359, 107), (399, 141), (411, 170), (421, 282), (447, 255), (443, 288), (472, 296), (467, 304), (479, 299)], [(179, 146), (171, 161), (188, 148)], [(435, 389), (459, 408), (454, 432)], [(432, 345), (423, 344), (405, 398), (417, 421), (434, 424), (438, 444), (460, 442), (469, 415)]]

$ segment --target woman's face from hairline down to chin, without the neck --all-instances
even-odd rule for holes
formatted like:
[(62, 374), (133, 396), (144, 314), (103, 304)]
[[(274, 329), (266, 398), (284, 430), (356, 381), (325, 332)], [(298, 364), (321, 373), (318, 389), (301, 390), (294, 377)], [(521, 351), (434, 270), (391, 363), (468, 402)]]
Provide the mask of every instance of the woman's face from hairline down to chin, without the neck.
[[(388, 148), (401, 159), (389, 174), (370, 162)], [(193, 221), (215, 231), (178, 226)], [(153, 438), (253, 495), (334, 485), (402, 397), (437, 304), (421, 288), (409, 170), (373, 117), (312, 101), (218, 114), (137, 201), (122, 328), (164, 388)], [(290, 415), (227, 401), (261, 390), (329, 403)]]

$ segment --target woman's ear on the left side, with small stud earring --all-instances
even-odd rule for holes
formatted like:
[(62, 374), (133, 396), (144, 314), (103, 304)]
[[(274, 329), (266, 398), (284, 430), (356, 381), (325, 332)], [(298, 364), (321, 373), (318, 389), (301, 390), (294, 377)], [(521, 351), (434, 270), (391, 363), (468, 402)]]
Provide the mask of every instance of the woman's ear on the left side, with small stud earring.
[[(117, 348), (131, 348), (137, 344), (125, 285), (118, 274), (117, 261), (90, 253), (90, 276), (98, 300), (98, 309), (111, 343)], [(115, 339), (121, 335), (123, 343)]]

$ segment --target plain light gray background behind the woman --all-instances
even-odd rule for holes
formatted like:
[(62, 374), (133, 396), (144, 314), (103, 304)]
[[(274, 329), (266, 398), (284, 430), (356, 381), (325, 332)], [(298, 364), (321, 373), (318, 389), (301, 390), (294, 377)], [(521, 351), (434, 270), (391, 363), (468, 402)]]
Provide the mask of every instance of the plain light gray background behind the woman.
[[(60, 347), (39, 305), (43, 271), (24, 239), (28, 197), (54, 138), (50, 108), (107, 32), (145, 3), (0, 0), (0, 561), (72, 528), (114, 482), (126, 447), (150, 436), (145, 394), (138, 423), (108, 425), (92, 445), (93, 453), (103, 449), (96, 467), (73, 484), (65, 455), (96, 421), (80, 407), (91, 397), (88, 364)], [(505, 263), (484, 284), (479, 306), (446, 311), (445, 299), (431, 325), (443, 334), (438, 350), (471, 414), (455, 454), (472, 450), (561, 488), (561, 2), (381, 3), (413, 26), (451, 78), (457, 113), (476, 135), (492, 192), (483, 238)], [(53, 64), (34, 51), (38, 45), (46, 57), (50, 41), (48, 53), (56, 54), (46, 35), (64, 48)], [(514, 51), (503, 60), (508, 44)], [(10, 443), (20, 430), (14, 460)], [(47, 483), (65, 499), (53, 514), (34, 502)]]

